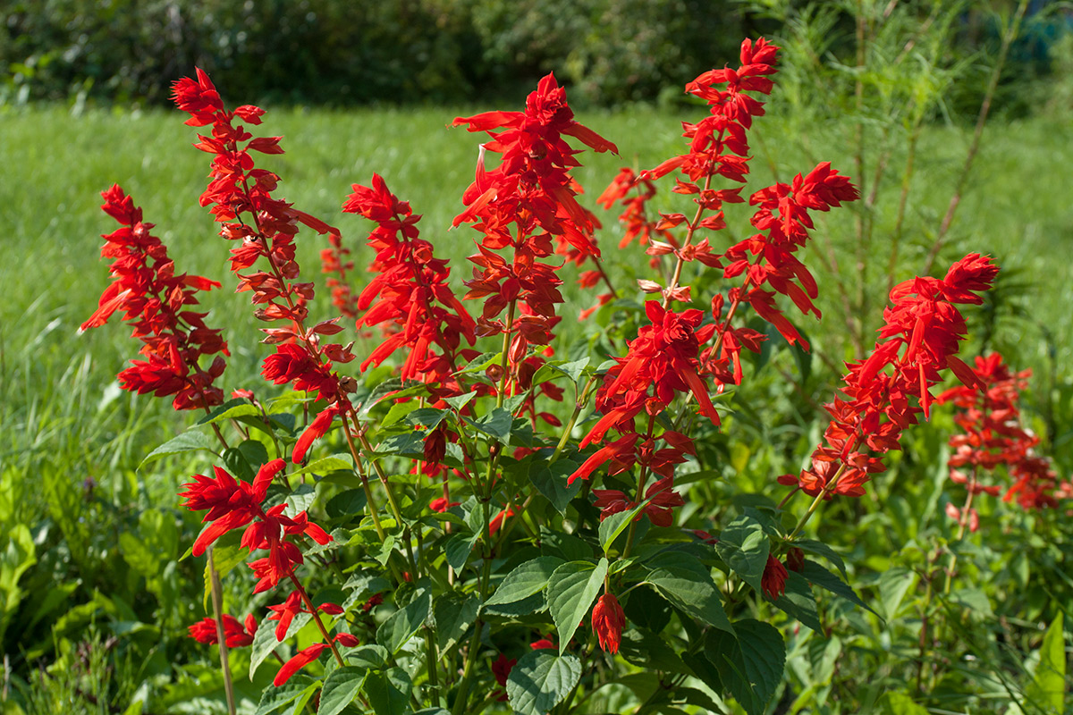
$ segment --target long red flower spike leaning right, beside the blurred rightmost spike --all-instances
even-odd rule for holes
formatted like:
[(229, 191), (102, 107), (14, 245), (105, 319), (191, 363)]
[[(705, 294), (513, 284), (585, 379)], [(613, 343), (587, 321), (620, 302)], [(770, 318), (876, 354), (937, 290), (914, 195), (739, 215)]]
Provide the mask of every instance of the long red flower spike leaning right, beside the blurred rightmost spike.
[(867, 360), (848, 364), (847, 399), (825, 405), (832, 421), (811, 466), (798, 476), (783, 475), (779, 482), (812, 496), (861, 496), (870, 475), (885, 468), (862, 446), (879, 455), (898, 449), (902, 430), (915, 424), (917, 415), (927, 418), (934, 400), (929, 389), (942, 381), (940, 370), (950, 369), (965, 385), (976, 387), (976, 374), (956, 357), (966, 334), (956, 306), (981, 303), (978, 294), (997, 274), (990, 258), (971, 253), (942, 279), (915, 278), (896, 285), (892, 306), (883, 312), (881, 342)]

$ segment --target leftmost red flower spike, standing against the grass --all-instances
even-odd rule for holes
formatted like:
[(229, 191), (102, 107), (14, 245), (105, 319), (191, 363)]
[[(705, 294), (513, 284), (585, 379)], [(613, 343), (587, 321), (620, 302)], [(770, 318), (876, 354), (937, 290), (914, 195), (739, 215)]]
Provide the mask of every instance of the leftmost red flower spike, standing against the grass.
[[(150, 233), (153, 224), (142, 220), (142, 209), (119, 185), (101, 196), (101, 208), (121, 224), (103, 236), (101, 248), (101, 257), (113, 259), (113, 282), (79, 332), (104, 325), (121, 311), (123, 319), (134, 326), (132, 337), (144, 343), (141, 354), (146, 358), (134, 360), (119, 373), (124, 390), (159, 398), (174, 394), (176, 409), (222, 403), (223, 392), (212, 382), (223, 373), (222, 355), (230, 355), (227, 344), (219, 330), (206, 327), (205, 313), (187, 308), (197, 304), (199, 291), (220, 284), (201, 275), (176, 273), (167, 247)], [(217, 355), (208, 369), (199, 366), (203, 355)]]

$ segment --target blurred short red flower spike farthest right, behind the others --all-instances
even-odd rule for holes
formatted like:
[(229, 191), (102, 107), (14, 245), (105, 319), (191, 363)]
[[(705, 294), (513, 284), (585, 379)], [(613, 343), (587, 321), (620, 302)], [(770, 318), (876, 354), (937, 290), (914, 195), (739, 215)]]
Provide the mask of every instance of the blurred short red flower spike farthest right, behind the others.
[[(1057, 506), (1058, 477), (1049, 460), (1035, 453), (1040, 438), (1021, 427), (1017, 406), (1032, 372), (1012, 372), (999, 353), (976, 357), (973, 372), (980, 381), (979, 387), (959, 385), (936, 400), (958, 407), (954, 421), (962, 430), (950, 438), (954, 449), (947, 461), (951, 481), (965, 485), (970, 498), (981, 493), (996, 496), (1002, 487), (982, 483), (982, 473), (1004, 466), (1012, 480), (1003, 496), (1005, 501), (1016, 497), (1026, 509)], [(946, 512), (958, 523), (968, 523), (970, 531), (976, 531), (980, 517), (971, 501), (967, 500), (960, 508), (950, 504)]]

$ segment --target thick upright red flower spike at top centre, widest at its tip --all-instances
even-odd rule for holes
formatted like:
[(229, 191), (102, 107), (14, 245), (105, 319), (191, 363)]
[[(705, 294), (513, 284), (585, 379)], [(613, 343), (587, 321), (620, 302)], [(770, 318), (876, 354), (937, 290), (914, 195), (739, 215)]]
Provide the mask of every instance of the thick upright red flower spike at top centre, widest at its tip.
[[(596, 151), (615, 151), (614, 144), (574, 121), (567, 93), (553, 75), (541, 79), (526, 100), (525, 111), (487, 111), (456, 118), (471, 132), (486, 132), (490, 141), (481, 147), (476, 178), (466, 190), (466, 210), (454, 225), (471, 223), (482, 235), (466, 298), (483, 298), (477, 334), (513, 334), (511, 368), (517, 375), (530, 344), (546, 345), (558, 322), (555, 306), (562, 302), (557, 267), (541, 259), (554, 252), (553, 238), (562, 239), (580, 255), (599, 255), (592, 240), (593, 218), (575, 196), (579, 187), (570, 176), (577, 166), (563, 135), (573, 136)], [(500, 165), (486, 170), (487, 151), (502, 155)], [(513, 249), (512, 257), (498, 253)], [(517, 313), (515, 311), (517, 307)], [(508, 311), (506, 321), (498, 319)]]

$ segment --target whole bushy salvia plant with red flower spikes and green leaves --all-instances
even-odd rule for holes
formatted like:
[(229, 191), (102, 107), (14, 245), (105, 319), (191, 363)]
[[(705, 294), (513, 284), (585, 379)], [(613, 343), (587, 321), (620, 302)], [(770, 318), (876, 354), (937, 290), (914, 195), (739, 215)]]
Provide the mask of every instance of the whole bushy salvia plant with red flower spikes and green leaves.
[[(825, 405), (820, 444), (798, 473), (771, 475), (770, 498), (735, 502), (720, 523), (690, 505), (718, 478), (710, 445), (747, 379), (743, 351), (809, 349), (795, 319), (820, 317), (802, 256), (813, 217), (858, 199), (828, 163), (743, 193), (777, 55), (747, 40), (738, 66), (687, 85), (708, 110), (682, 123), (681, 153), (622, 169), (599, 197), (622, 209), (614, 252), (650, 270), (630, 288), (605, 269), (572, 176), (583, 150), (617, 148), (574, 119), (552, 75), (521, 110), (454, 120), (483, 135), (454, 219), (453, 236), (475, 243), (462, 288), (378, 175), (340, 196), (371, 226), (374, 257), (355, 269), (340, 232), (279, 198), (280, 178), (259, 167), (259, 153), (282, 152), (254, 134), (263, 110), (227, 109), (200, 70), (175, 83), (211, 157), (201, 205), (264, 323), (261, 374), (275, 387), (225, 398), (229, 348), (196, 308), (220, 284), (180, 272), (119, 187), (103, 194), (119, 223), (102, 250), (114, 280), (83, 328), (119, 313), (143, 344), (121, 387), (201, 413), (153, 455), (217, 457), (176, 485), (204, 522), (188, 556), (207, 555), (212, 601), (190, 635), (219, 644), (232, 710), (246, 675), (231, 669), (248, 662), (251, 677), (275, 672), (258, 713), (720, 712), (726, 700), (762, 713), (787, 656), (777, 626), (823, 632), (825, 604), (865, 608), (839, 555), (803, 530), (825, 502), (868, 492), (950, 375), (964, 387), (945, 399), (970, 408), (951, 461), (968, 498), (951, 517), (974, 527), (973, 495), (991, 491), (998, 461), (1025, 475), (1010, 494), (1046, 497), (1054, 479), (1038, 476), (1026, 435), (995, 426), (1018, 376), (956, 356), (962, 307), (998, 272), (973, 253), (894, 286), (873, 349)], [(658, 187), (681, 212), (651, 210)], [(723, 207), (745, 203), (748, 235), (722, 239)], [(326, 239), (330, 308), (310, 310), (299, 234)], [(564, 304), (568, 274), (594, 294), (579, 309)], [(558, 343), (563, 317), (598, 310), (613, 316), (603, 339)], [(368, 349), (341, 339), (351, 326)], [(258, 596), (224, 602), (221, 579)]]

